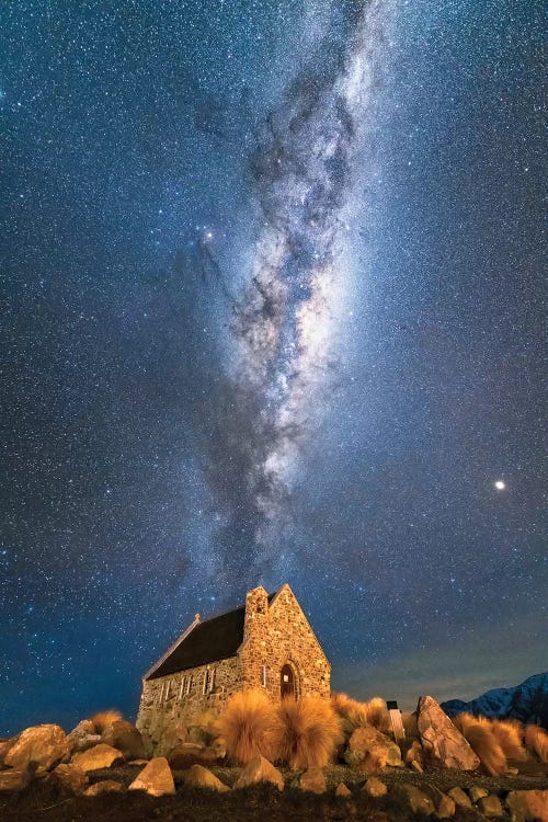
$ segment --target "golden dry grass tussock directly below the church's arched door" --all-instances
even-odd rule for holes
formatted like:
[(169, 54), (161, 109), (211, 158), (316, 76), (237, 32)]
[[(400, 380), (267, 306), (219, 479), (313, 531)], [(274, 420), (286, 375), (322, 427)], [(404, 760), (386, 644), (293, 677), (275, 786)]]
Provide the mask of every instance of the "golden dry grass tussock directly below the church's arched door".
[(331, 701), (309, 695), (284, 699), (278, 708), (283, 731), (278, 756), (290, 768), (326, 767), (343, 741), (341, 722)]

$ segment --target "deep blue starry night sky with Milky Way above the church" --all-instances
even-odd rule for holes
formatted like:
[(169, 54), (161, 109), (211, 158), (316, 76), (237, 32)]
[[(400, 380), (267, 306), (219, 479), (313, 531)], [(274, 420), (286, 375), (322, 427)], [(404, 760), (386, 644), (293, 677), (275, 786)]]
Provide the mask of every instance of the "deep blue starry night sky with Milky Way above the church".
[(0, 9), (0, 735), (287, 581), (332, 686), (546, 670), (540, 0)]

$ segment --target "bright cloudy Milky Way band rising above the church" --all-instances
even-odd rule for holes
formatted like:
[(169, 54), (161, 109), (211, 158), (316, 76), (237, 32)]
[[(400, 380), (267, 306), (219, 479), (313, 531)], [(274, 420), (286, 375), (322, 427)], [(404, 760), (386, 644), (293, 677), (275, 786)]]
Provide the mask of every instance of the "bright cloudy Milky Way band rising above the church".
[(249, 414), (232, 446), (247, 455), (246, 505), (239, 496), (233, 515), (250, 525), (250, 581), (272, 582), (290, 562), (286, 546), (272, 567), (287, 540), (292, 475), (313, 434), (315, 403), (336, 367), (333, 333), (353, 275), (347, 238), (387, 14), (386, 2), (359, 3), (338, 32), (342, 42), (330, 33), (316, 45), (266, 116), (251, 160), (261, 229), (236, 308), (232, 375)]

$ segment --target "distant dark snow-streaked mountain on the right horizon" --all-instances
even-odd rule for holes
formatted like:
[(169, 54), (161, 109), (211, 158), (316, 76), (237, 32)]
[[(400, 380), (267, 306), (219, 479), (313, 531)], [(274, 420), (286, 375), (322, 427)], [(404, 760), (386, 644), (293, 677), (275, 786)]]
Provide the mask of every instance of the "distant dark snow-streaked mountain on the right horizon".
[(529, 676), (513, 688), (493, 688), (469, 703), (449, 699), (442, 703), (442, 708), (449, 717), (468, 711), (491, 719), (518, 719), (548, 729), (548, 672)]

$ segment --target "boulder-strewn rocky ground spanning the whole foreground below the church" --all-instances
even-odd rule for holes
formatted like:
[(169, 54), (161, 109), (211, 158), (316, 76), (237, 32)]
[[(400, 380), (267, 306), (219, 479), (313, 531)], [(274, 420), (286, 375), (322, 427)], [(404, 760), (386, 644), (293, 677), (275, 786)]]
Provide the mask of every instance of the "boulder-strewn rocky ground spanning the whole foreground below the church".
[(214, 744), (180, 742), (167, 756), (151, 755), (130, 722), (99, 717), (69, 734), (44, 724), (0, 741), (1, 822), (548, 822), (543, 757), (523, 754), (504, 761), (503, 775), (486, 776), (430, 698), (420, 738), (400, 749), (358, 727), (339, 750), (340, 764), (307, 770), (262, 756), (229, 766)]

